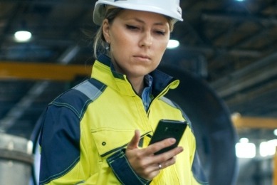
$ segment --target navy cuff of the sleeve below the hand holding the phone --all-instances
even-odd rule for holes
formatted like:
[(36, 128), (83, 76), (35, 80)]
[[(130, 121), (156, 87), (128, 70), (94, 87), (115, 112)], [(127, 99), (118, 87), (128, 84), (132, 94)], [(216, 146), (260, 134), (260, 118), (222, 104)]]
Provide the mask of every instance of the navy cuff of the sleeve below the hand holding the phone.
[(140, 178), (140, 176), (137, 176), (135, 171), (132, 170), (125, 155), (125, 149), (113, 154), (107, 159), (107, 162), (122, 184), (150, 184), (151, 182)]

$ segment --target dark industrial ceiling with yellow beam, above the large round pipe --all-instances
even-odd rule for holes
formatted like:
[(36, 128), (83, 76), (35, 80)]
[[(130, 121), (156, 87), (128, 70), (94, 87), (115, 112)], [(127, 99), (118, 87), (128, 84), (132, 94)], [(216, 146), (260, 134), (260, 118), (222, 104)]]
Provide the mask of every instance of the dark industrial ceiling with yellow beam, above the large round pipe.
[[(0, 0), (1, 132), (31, 137), (48, 103), (89, 76), (94, 60), (91, 36), (98, 29), (92, 21), (94, 4)], [(172, 33), (180, 46), (168, 49), (161, 65), (197, 75), (231, 113), (276, 119), (277, 1), (180, 4), (184, 21)], [(14, 33), (22, 29), (31, 31), (31, 41), (14, 40)], [(263, 122), (252, 126), (255, 137), (268, 136), (255, 129)]]

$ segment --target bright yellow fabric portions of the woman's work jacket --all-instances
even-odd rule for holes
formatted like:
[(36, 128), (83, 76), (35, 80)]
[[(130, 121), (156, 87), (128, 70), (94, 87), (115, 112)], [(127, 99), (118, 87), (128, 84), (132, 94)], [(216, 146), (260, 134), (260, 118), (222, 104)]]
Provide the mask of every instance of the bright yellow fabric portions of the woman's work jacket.
[[(147, 147), (150, 142), (147, 132), (152, 135), (159, 120), (184, 120), (182, 112), (164, 97), (169, 89), (177, 88), (178, 80), (160, 90), (146, 112), (125, 76), (115, 78), (108, 65), (95, 61), (92, 78), (103, 83), (105, 89), (82, 110), (83, 116), (76, 123), (80, 125), (80, 159), (48, 184), (120, 184), (106, 159), (130, 142), (135, 129), (145, 134), (142, 147)], [(177, 156), (176, 164), (162, 169), (151, 184), (197, 184), (192, 176), (196, 146), (190, 127), (179, 145), (184, 152)]]

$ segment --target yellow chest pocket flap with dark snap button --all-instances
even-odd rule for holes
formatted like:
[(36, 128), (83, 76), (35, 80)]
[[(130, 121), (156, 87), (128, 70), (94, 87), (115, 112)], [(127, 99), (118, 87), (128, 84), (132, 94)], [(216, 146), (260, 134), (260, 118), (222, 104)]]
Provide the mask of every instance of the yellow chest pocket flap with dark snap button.
[[(145, 137), (150, 132), (140, 131), (141, 138)], [(123, 149), (130, 142), (135, 134), (134, 129), (119, 130), (110, 128), (92, 129), (91, 134), (95, 141), (95, 146), (98, 149), (100, 157), (108, 158), (110, 154)]]

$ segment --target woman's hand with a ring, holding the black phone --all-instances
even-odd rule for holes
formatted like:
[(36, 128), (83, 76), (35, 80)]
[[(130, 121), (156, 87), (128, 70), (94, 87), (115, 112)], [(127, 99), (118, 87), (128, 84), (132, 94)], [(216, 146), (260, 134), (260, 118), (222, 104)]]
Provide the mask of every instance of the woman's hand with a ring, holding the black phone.
[(164, 139), (143, 149), (138, 147), (139, 142), (140, 131), (135, 130), (135, 135), (127, 145), (125, 154), (136, 174), (146, 180), (152, 180), (161, 169), (174, 164), (177, 154), (183, 151), (182, 147), (176, 147), (168, 152), (154, 155), (160, 149), (174, 144), (176, 142), (174, 138)]

